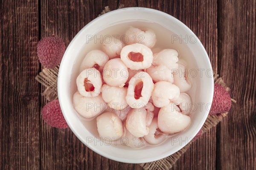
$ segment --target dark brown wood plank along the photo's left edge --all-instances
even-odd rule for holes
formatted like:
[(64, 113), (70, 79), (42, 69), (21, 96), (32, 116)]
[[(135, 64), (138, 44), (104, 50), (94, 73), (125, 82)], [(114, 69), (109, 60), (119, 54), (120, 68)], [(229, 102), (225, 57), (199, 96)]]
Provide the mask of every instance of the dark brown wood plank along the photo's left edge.
[(0, 169), (39, 169), (38, 1), (0, 2)]

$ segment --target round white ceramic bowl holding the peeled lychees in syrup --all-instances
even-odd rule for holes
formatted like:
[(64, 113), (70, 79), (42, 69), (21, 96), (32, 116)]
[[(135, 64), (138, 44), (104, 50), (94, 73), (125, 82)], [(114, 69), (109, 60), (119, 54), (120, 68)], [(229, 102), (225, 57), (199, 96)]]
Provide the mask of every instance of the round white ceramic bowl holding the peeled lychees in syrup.
[[(169, 138), (163, 144), (154, 147), (133, 149), (115, 146), (114, 144), (108, 146), (100, 142), (94, 135), (96, 130), (92, 128), (95, 125), (91, 126), (93, 122), (81, 120), (72, 104), (73, 93), (76, 91), (76, 77), (79, 74), (79, 63), (77, 62), (81, 61), (81, 57), (84, 57), (84, 54), (81, 55), (81, 51), (87, 47), (87, 35), (97, 34), (109, 26), (128, 21), (156, 23), (169, 29), (170, 32), (181, 36), (183, 39), (184, 37), (191, 38), (191, 36), (197, 38), (186, 25), (175, 17), (161, 11), (132, 7), (108, 12), (84, 26), (68, 45), (59, 68), (58, 99), (70, 129), (91, 150), (115, 161), (145, 163), (172, 155), (190, 142), (198, 133), (209, 113), (213, 98), (214, 82), (211, 76), (211, 63), (204, 46), (198, 39), (196, 42), (192, 39), (188, 40), (187, 43), (183, 43), (180, 46), (178, 51), (190, 50), (190, 56), (184, 56), (183, 58), (187, 61), (188, 68), (194, 69), (197, 73), (197, 76), (193, 78), (192, 89), (189, 91), (197, 108), (192, 114), (192, 123), (189, 128)], [(186, 42), (186, 40), (184, 41)]]

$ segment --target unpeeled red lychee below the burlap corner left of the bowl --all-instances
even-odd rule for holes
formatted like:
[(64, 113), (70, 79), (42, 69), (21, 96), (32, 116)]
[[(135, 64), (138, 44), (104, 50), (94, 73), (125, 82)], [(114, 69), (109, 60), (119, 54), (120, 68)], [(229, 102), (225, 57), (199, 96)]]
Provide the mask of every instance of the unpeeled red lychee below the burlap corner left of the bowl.
[(60, 103), (58, 100), (53, 100), (47, 103), (41, 110), (42, 118), (48, 125), (60, 129), (67, 128), (67, 122), (61, 112)]

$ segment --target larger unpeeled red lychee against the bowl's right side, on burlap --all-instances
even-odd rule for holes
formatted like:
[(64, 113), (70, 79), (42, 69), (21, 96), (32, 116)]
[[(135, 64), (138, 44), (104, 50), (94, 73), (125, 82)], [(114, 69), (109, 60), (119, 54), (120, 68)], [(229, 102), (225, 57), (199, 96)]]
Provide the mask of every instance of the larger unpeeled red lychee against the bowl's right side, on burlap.
[(230, 110), (231, 104), (230, 94), (226, 89), (218, 83), (214, 83), (214, 94), (209, 114), (226, 113)]

